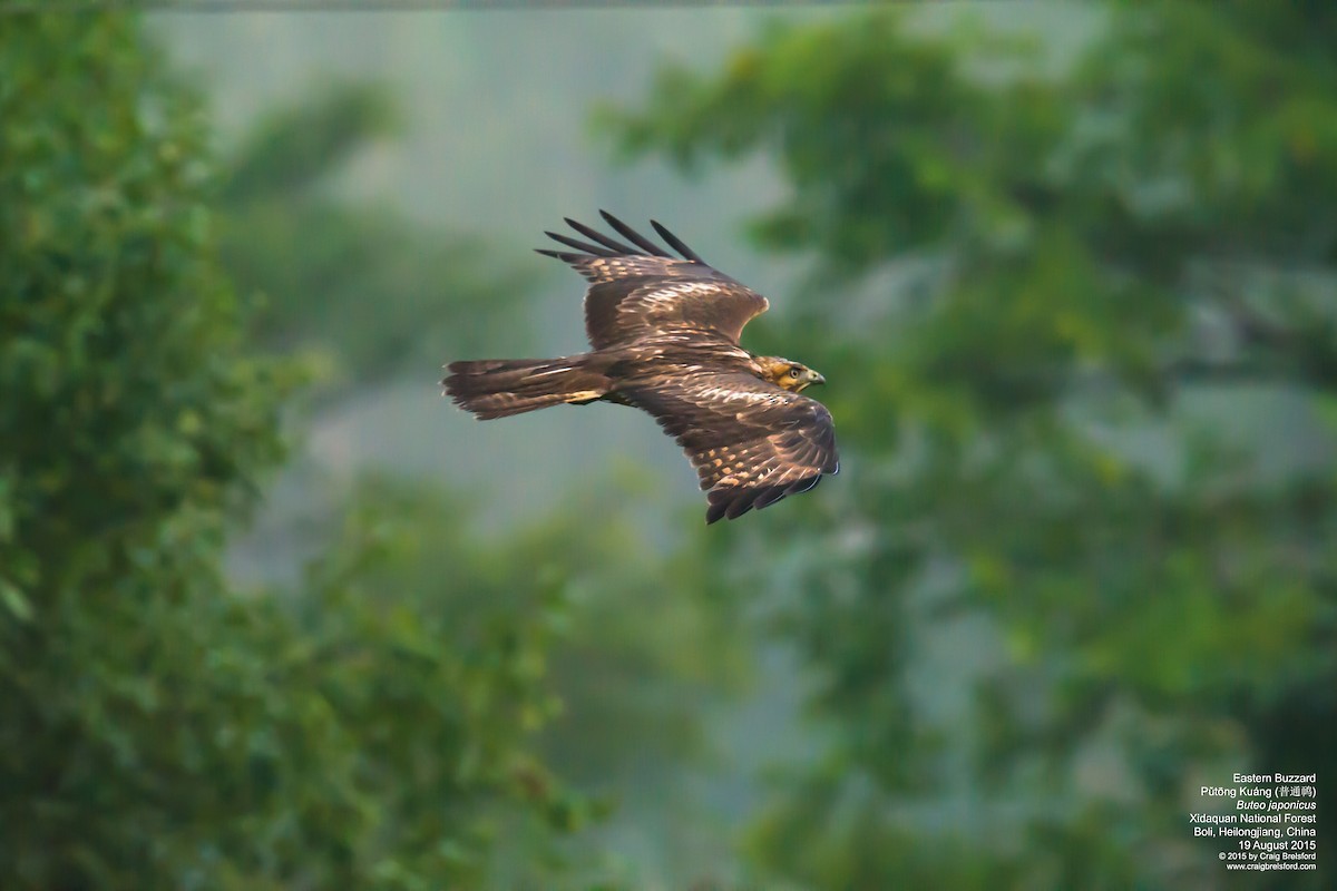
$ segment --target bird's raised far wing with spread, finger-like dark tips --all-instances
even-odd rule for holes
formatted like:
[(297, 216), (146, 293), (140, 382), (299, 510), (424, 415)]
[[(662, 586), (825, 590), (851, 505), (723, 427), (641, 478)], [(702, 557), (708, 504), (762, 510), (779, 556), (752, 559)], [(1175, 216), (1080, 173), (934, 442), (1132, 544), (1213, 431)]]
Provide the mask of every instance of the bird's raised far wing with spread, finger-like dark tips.
[(673, 331), (701, 331), (738, 343), (743, 326), (766, 311), (766, 298), (706, 264), (673, 232), (651, 222), (683, 259), (640, 235), (607, 211), (603, 219), (624, 244), (572, 219), (567, 224), (591, 239), (545, 232), (580, 252), (539, 250), (571, 264), (588, 282), (586, 334), (602, 350)]

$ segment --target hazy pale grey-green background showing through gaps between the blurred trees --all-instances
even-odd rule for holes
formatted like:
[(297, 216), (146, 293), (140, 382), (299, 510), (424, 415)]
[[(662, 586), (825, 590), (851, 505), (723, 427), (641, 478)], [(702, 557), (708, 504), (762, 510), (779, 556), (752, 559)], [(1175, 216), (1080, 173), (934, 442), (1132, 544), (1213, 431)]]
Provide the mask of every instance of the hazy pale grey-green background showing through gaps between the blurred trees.
[[(504, 262), (540, 274), (529, 330), (516, 333), (516, 353), (532, 343), (544, 354), (563, 354), (586, 347), (583, 285), (531, 248), (547, 240), (544, 228), (563, 228), (563, 216), (595, 220), (599, 208), (638, 226), (650, 218), (666, 223), (713, 264), (766, 293), (773, 313), (785, 313), (801, 264), (758, 254), (743, 235), (749, 215), (781, 196), (783, 186), (773, 170), (747, 163), (685, 179), (659, 162), (618, 164), (591, 127), (591, 110), (604, 102), (635, 103), (666, 60), (718, 65), (730, 47), (769, 20), (844, 12), (162, 13), (152, 24), (209, 95), (223, 150), (266, 111), (321, 84), (377, 81), (393, 88), (405, 118), (402, 132), (368, 147), (329, 187), (357, 200), (392, 203), (445, 232), (479, 234)], [(1094, 20), (1084, 9), (1017, 3), (949, 4), (916, 15), (932, 29), (956, 27), (963, 12), (983, 16), (993, 28), (1048, 35), (1056, 64)], [(877, 286), (892, 283), (878, 279)], [(885, 299), (862, 295), (869, 298)], [(801, 345), (790, 354), (801, 359)], [(441, 357), (453, 358), (469, 357)], [(697, 521), (702, 498), (694, 472), (640, 413), (600, 405), (479, 423), (441, 399), (437, 377), (439, 369), (422, 367), (385, 386), (350, 386), (346, 398), (326, 405), (310, 422), (309, 460), (273, 490), (265, 516), (239, 549), (237, 570), (291, 572), (302, 556), (302, 518), (321, 510), (326, 486), (365, 466), (444, 480), (480, 494), (473, 501), (487, 505), (476, 518), (481, 525), (547, 512), (567, 500), (571, 488), (584, 486), (616, 486), (615, 497), (644, 502), (636, 516), (666, 542), (681, 522)], [(967, 679), (993, 657), (988, 629), (977, 621), (944, 625), (923, 641), (916, 683), (932, 689), (924, 699), (935, 708), (957, 711)], [(749, 700), (713, 720), (715, 769), (686, 779), (693, 816), (662, 812), (656, 796), (663, 777), (648, 776), (644, 796), (623, 797), (602, 831), (643, 880), (674, 887), (703, 874), (730, 875), (729, 834), (755, 804), (757, 771), (813, 747), (812, 733), (820, 731), (798, 725), (804, 681), (793, 660), (774, 648), (761, 659), (763, 680)]]

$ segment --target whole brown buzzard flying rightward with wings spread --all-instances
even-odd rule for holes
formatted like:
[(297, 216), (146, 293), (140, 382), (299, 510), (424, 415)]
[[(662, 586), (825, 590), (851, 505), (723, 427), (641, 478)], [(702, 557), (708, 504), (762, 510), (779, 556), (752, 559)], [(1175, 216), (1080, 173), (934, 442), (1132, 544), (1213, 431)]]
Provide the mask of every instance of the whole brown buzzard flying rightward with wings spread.
[(612, 214), (600, 215), (630, 244), (567, 219), (590, 240), (545, 232), (571, 251), (539, 250), (590, 283), (584, 317), (592, 349), (556, 359), (451, 362), (445, 393), (484, 421), (596, 401), (642, 409), (701, 477), (707, 524), (808, 492), (837, 473), (830, 411), (802, 395), (825, 378), (738, 345), (766, 298), (711, 269), (659, 223), (651, 220), (681, 259)]

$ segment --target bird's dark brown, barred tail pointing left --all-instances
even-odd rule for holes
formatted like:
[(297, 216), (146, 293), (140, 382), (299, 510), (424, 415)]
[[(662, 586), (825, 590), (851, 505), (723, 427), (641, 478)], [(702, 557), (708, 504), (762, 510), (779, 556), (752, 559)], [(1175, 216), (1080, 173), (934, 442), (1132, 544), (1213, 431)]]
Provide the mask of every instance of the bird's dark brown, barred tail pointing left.
[(583, 358), (451, 362), (451, 374), (441, 385), (456, 405), (480, 421), (564, 402), (592, 402), (608, 391), (608, 381), (584, 367)]

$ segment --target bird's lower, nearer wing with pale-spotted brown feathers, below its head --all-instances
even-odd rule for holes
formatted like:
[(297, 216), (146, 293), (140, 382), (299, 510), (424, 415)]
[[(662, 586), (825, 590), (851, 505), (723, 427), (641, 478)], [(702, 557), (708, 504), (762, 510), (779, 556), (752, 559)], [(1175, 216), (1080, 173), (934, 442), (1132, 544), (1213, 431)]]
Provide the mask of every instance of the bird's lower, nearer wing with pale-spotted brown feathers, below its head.
[(666, 373), (618, 391), (687, 453), (710, 490), (706, 522), (808, 492), (840, 470), (826, 406), (745, 371)]

